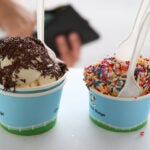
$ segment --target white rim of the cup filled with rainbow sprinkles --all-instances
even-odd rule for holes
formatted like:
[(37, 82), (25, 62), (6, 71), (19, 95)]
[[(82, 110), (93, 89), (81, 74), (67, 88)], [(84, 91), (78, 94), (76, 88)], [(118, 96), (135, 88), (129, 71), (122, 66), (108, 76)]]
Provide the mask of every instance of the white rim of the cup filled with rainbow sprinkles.
[(144, 99), (150, 97), (150, 94), (147, 94), (144, 96), (139, 96), (136, 99), (134, 97), (124, 98), (124, 97), (115, 97), (115, 96), (105, 95), (101, 92), (96, 91), (94, 88), (90, 88), (89, 91), (93, 91), (94, 93), (96, 93), (97, 95), (99, 95), (101, 97), (111, 99), (111, 100), (117, 100), (117, 101), (140, 101), (140, 100), (144, 100)]

